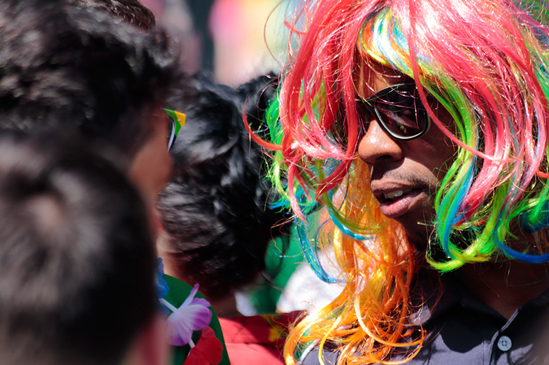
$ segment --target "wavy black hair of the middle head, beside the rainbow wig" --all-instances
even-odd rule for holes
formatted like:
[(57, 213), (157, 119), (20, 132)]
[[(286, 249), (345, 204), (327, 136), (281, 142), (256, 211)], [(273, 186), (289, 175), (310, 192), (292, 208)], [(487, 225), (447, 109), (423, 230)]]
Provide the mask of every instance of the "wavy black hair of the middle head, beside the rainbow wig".
[(264, 155), (251, 141), (242, 114), (258, 128), (277, 79), (258, 77), (237, 89), (203, 74), (172, 88), (168, 108), (187, 114), (172, 149), (174, 181), (159, 195), (168, 254), (180, 277), (198, 282), (209, 299), (221, 299), (257, 279), (274, 236), (287, 234)]

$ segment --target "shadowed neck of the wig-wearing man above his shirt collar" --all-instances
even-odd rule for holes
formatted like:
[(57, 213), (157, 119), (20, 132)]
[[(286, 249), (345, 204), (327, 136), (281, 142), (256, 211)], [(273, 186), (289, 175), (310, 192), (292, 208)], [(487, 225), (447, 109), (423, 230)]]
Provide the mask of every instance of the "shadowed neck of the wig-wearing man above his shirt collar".
[(549, 289), (549, 264), (467, 264), (457, 273), (473, 294), (505, 318)]

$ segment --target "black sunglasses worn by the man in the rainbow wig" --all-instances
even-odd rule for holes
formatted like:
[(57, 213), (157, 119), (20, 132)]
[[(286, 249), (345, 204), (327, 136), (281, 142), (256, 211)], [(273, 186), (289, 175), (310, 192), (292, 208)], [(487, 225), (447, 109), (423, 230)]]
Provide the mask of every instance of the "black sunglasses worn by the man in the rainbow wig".
[[(370, 114), (379, 127), (395, 140), (413, 140), (427, 133), (431, 120), (419, 99), (416, 84), (395, 84), (358, 103), (368, 122)], [(367, 125), (365, 129), (367, 130)]]

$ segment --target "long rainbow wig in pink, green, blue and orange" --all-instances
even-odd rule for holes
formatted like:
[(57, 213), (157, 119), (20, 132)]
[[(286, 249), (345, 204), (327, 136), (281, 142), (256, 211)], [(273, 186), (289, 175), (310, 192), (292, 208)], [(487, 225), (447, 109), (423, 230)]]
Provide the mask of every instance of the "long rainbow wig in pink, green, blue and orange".
[[(445, 272), (504, 258), (549, 261), (547, 9), (526, 0), (318, 0), (296, 11), (288, 22), (292, 58), (264, 145), (271, 177), (299, 218), (307, 260), (346, 287), (296, 325), (288, 364), (312, 341), (320, 349), (335, 344), (338, 364), (399, 363), (395, 355), (406, 362), (425, 338), (410, 320), (421, 258), (379, 212), (358, 158), (356, 80), (364, 64), (413, 79), (434, 125), (458, 147), (436, 192), (430, 264)], [(428, 97), (454, 125), (439, 121)], [(524, 235), (530, 245), (509, 245)], [(445, 260), (429, 254), (435, 245)], [(315, 259), (327, 246), (338, 278)]]

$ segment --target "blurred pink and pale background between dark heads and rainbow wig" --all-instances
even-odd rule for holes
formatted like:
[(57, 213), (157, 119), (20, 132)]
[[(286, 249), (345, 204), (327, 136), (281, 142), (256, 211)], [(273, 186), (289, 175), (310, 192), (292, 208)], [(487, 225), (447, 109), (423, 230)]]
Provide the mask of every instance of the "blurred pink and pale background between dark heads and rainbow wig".
[(141, 0), (184, 45), (189, 73), (235, 86), (283, 64), (289, 0)]

